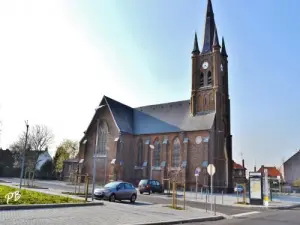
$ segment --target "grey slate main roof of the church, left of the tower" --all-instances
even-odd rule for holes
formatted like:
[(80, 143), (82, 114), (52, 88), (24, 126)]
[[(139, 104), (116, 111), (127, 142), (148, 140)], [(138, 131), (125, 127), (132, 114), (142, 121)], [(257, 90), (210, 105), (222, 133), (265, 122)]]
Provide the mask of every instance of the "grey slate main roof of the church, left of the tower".
[(215, 118), (214, 112), (192, 116), (189, 100), (137, 108), (107, 96), (103, 100), (106, 100), (119, 130), (136, 135), (209, 130)]

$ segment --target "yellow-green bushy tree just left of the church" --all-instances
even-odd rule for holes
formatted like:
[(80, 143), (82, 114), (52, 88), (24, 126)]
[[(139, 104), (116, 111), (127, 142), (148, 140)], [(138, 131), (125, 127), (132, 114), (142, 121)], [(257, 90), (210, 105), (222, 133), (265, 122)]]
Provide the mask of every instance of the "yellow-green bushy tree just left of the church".
[(65, 139), (57, 147), (54, 155), (54, 167), (56, 172), (62, 172), (63, 162), (67, 159), (74, 159), (78, 154), (78, 142)]

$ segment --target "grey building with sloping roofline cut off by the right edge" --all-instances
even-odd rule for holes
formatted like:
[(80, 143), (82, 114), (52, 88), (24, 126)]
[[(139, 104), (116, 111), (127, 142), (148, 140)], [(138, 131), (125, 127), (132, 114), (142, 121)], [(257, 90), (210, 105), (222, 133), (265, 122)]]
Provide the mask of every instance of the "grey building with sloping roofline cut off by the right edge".
[(286, 183), (293, 184), (300, 180), (300, 150), (283, 163), (284, 178)]

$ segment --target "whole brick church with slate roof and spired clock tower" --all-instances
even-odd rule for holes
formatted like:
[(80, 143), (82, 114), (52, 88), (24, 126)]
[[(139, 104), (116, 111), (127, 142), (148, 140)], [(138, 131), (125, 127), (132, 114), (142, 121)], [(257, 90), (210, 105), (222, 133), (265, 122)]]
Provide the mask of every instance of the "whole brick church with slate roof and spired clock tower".
[[(211, 0), (207, 2), (204, 40), (197, 34), (191, 52), (189, 100), (132, 108), (103, 96), (80, 141), (82, 173), (96, 182), (152, 178), (195, 187), (210, 186), (206, 167), (216, 167), (215, 190), (232, 190), (232, 135), (225, 42), (220, 46)], [(188, 76), (188, 74), (187, 74)]]

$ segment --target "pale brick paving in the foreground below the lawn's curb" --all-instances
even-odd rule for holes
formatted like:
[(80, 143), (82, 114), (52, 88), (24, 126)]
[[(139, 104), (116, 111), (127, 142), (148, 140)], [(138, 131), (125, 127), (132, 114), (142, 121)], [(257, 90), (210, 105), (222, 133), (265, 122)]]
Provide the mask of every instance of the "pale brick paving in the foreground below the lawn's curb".
[(58, 224), (141, 224), (190, 218), (212, 217), (204, 210), (187, 208), (173, 210), (148, 203), (110, 203), (104, 206), (17, 210), (0, 212), (0, 224), (58, 225)]

